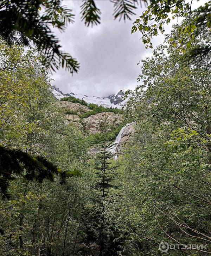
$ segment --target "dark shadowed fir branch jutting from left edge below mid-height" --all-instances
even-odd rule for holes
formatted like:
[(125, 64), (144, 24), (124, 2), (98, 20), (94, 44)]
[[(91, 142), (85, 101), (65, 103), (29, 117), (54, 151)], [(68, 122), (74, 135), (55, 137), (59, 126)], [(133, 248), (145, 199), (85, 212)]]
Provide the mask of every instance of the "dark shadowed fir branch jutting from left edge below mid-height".
[(30, 156), (21, 150), (9, 150), (0, 146), (0, 189), (9, 197), (7, 190), (9, 181), (15, 175), (23, 176), (27, 181), (36, 180), (41, 183), (44, 179), (54, 180), (54, 175), (60, 176), (60, 182), (65, 183), (65, 178), (72, 175), (81, 175), (78, 171), (62, 172), (56, 165), (41, 156)]

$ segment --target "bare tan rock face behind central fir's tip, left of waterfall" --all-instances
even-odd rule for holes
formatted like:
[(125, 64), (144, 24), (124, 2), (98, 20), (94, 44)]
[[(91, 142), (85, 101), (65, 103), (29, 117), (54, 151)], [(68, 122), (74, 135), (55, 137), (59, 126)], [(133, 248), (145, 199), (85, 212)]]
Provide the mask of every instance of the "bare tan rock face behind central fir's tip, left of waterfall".
[(114, 114), (113, 112), (102, 112), (83, 118), (82, 122), (84, 124), (84, 129), (87, 130), (89, 134), (99, 133), (100, 124), (105, 117), (110, 125), (119, 124), (122, 120), (122, 115)]

